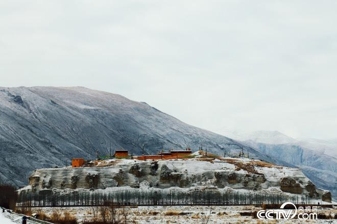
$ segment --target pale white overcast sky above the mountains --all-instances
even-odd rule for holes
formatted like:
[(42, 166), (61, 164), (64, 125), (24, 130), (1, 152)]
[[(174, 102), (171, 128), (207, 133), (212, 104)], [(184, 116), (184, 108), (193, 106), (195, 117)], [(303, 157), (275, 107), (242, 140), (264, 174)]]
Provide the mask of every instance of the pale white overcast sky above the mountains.
[(84, 86), (186, 123), (337, 137), (337, 1), (0, 1), (0, 86)]

